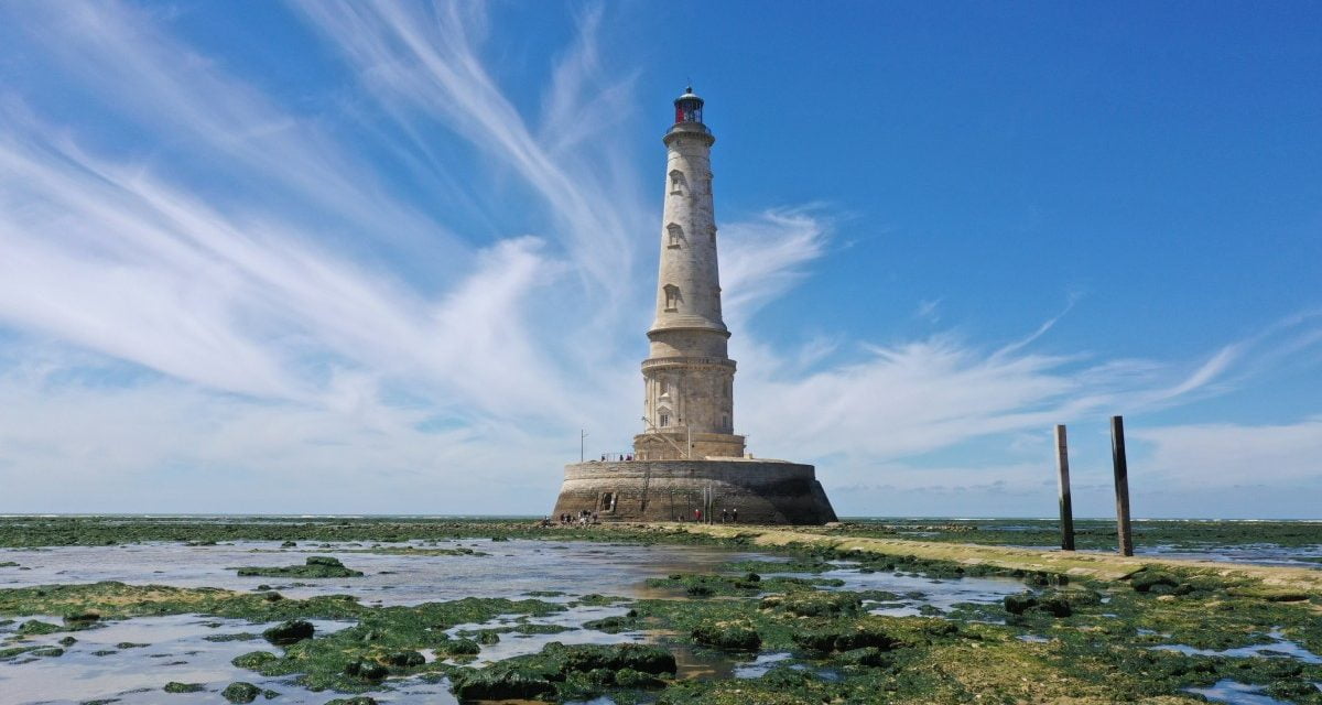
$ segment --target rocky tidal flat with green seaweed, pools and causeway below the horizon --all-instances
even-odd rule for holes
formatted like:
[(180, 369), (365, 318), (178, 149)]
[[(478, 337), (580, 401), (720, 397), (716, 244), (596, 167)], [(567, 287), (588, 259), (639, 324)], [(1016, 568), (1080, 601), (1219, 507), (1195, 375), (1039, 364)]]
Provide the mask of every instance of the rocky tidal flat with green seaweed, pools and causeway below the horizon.
[(1219, 524), (4, 517), (0, 702), (1322, 704), (1322, 529)]

